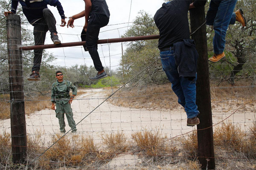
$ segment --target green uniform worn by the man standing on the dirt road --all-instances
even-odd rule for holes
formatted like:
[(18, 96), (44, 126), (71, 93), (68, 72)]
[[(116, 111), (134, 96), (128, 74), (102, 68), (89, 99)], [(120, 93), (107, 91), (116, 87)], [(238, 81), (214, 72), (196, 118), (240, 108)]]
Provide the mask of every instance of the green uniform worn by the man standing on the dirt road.
[(52, 84), (52, 96), (51, 101), (56, 102), (56, 117), (59, 120), (60, 130), (65, 133), (65, 121), (64, 113), (67, 116), (68, 125), (72, 128), (72, 132), (76, 132), (76, 122), (73, 119), (73, 112), (71, 105), (68, 103), (70, 100), (70, 88), (72, 89), (73, 95), (77, 94), (76, 86), (72, 82), (63, 80), (63, 82), (54, 82)]

